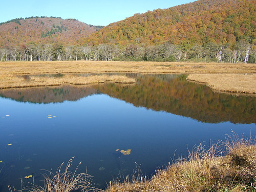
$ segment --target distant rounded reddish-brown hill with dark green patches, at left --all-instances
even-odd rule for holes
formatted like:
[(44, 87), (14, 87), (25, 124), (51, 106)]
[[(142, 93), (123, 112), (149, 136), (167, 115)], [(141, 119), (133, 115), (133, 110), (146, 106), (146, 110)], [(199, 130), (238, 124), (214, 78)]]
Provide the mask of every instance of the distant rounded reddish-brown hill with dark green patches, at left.
[(0, 47), (28, 42), (74, 45), (81, 37), (98, 31), (102, 26), (87, 25), (76, 19), (60, 17), (17, 18), (0, 25)]

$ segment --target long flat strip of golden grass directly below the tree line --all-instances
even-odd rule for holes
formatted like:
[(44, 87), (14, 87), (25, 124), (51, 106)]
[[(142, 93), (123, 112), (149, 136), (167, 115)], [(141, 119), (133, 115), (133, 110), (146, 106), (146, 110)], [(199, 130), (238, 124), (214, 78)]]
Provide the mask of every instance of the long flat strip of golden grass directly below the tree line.
[(12, 61), (0, 62), (2, 74), (33, 73), (255, 73), (256, 64), (125, 62), (125, 61)]

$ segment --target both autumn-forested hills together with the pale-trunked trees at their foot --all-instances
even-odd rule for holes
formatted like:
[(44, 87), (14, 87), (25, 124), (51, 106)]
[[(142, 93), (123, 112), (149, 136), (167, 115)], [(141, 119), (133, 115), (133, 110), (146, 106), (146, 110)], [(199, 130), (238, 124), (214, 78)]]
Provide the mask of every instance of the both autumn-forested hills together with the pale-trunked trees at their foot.
[(13, 19), (0, 25), (0, 60), (256, 63), (254, 0), (199, 0), (100, 28), (76, 19)]

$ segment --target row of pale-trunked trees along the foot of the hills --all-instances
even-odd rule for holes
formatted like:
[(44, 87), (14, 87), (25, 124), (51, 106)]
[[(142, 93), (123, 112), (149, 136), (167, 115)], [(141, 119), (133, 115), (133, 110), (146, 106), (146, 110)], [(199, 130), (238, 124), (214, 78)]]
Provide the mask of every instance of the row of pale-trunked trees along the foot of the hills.
[(219, 45), (208, 42), (195, 44), (189, 49), (165, 43), (161, 45), (130, 44), (127, 46), (100, 44), (69, 45), (59, 43), (6, 46), (0, 48), (1, 61), (53, 61), (53, 60), (120, 60), (120, 61), (204, 61), (230, 63), (256, 63), (256, 45), (246, 41)]

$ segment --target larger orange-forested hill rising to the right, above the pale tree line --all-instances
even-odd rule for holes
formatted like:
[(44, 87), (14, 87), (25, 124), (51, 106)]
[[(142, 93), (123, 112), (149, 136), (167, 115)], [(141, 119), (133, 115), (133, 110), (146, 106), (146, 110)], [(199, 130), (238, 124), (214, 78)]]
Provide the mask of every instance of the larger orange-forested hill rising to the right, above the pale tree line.
[(157, 9), (110, 24), (81, 40), (84, 44), (145, 44), (164, 42), (184, 48), (194, 44), (256, 42), (256, 1), (199, 0)]

